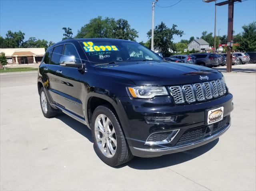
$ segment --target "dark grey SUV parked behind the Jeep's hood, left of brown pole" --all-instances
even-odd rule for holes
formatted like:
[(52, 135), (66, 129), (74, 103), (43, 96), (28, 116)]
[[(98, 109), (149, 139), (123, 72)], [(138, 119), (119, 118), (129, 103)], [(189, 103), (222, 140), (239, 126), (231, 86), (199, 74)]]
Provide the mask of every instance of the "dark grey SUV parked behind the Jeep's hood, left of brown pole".
[(206, 67), (214, 67), (218, 66), (218, 56), (214, 53), (198, 53), (192, 54), (196, 57), (196, 65), (206, 66)]

